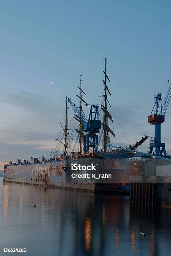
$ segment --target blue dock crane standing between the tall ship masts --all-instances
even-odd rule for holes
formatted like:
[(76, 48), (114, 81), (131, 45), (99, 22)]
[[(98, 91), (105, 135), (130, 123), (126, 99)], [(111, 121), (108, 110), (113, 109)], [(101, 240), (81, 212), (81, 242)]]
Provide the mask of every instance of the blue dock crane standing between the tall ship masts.
[[(91, 105), (90, 113), (88, 119), (85, 117), (83, 111), (80, 111), (80, 108), (77, 107), (73, 101), (68, 98), (73, 111), (75, 113), (74, 118), (81, 123), (78, 133), (82, 133), (84, 141), (84, 153), (89, 153), (89, 148), (93, 148), (93, 154), (97, 154), (98, 151), (98, 135), (96, 133), (100, 132), (101, 129), (101, 120), (99, 120), (99, 106)], [(87, 132), (84, 135), (84, 132)]]

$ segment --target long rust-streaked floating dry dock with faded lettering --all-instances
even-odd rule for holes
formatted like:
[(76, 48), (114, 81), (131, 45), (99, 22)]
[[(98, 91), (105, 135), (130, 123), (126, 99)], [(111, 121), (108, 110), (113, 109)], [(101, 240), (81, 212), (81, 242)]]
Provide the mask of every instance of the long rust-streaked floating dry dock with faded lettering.
[[(84, 171), (71, 169), (72, 164), (99, 166), (95, 170)], [(115, 166), (112, 169), (111, 166)], [(125, 170), (127, 169), (127, 175)], [(139, 171), (135, 168), (137, 175)], [(132, 173), (132, 172), (131, 172)], [(88, 178), (87, 175), (90, 176)], [(91, 175), (90, 175), (91, 174)], [(93, 175), (92, 175), (93, 174)], [(94, 174), (96, 178), (94, 178)], [(38, 186), (48, 186), (64, 189), (79, 189), (89, 192), (96, 190), (113, 190), (121, 186), (122, 181), (129, 182), (130, 166), (121, 165), (117, 161), (105, 159), (63, 159), (35, 163), (6, 164), (4, 166), (4, 181)], [(103, 179), (103, 176), (105, 179)], [(113, 177), (111, 179), (111, 176)], [(107, 178), (106, 178), (107, 177)], [(109, 178), (108, 178), (109, 177)], [(123, 179), (124, 177), (124, 179)], [(125, 190), (126, 186), (124, 186)], [(127, 188), (128, 189), (128, 188)]]

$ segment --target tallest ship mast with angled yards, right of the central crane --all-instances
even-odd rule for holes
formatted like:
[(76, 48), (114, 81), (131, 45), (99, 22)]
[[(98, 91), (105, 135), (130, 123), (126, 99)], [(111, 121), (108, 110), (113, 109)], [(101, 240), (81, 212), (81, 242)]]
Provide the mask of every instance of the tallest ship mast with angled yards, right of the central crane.
[[(104, 106), (101, 105), (101, 109), (103, 110), (104, 114), (103, 114), (103, 143), (104, 143), (104, 153), (107, 152), (107, 143), (110, 141), (110, 137), (108, 133), (111, 133), (114, 137), (115, 134), (113, 133), (113, 131), (108, 127), (108, 118), (112, 121), (113, 123), (113, 119), (111, 114), (108, 112), (107, 109), (107, 102), (108, 102), (108, 97), (107, 97), (107, 91), (109, 93), (109, 95), (111, 96), (111, 92), (108, 89), (107, 86), (107, 79), (110, 82), (107, 74), (106, 74), (106, 60), (107, 58), (105, 58), (105, 71), (103, 71), (103, 73), (105, 74), (105, 80), (103, 80), (103, 84), (104, 84), (104, 95), (103, 95), (103, 99), (104, 99)], [(108, 104), (110, 105), (110, 103), (108, 102)], [(110, 105), (111, 107), (111, 105)]]

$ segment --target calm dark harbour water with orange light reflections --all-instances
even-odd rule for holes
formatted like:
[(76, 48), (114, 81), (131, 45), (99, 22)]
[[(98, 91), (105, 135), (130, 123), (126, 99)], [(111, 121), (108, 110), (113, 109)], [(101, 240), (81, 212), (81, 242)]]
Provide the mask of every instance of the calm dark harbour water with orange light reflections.
[[(3, 253), (3, 248), (27, 252)], [(171, 210), (146, 217), (130, 209), (127, 196), (3, 183), (1, 177), (0, 255), (8, 254), (169, 256)]]

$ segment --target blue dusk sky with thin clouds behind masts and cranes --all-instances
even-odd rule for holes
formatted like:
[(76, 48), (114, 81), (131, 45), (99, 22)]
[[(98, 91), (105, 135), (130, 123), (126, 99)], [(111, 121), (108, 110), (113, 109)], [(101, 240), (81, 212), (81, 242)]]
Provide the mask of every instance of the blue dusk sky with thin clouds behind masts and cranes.
[[(104, 57), (117, 136), (112, 143), (152, 137), (147, 116), (154, 94), (162, 92), (164, 100), (171, 75), (170, 10), (171, 1), (1, 1), (0, 170), (8, 160), (50, 154), (63, 97), (76, 100), (80, 70), (85, 100), (99, 102)], [(171, 102), (162, 124), (169, 154), (170, 127)], [(139, 150), (147, 152), (148, 143)]]

